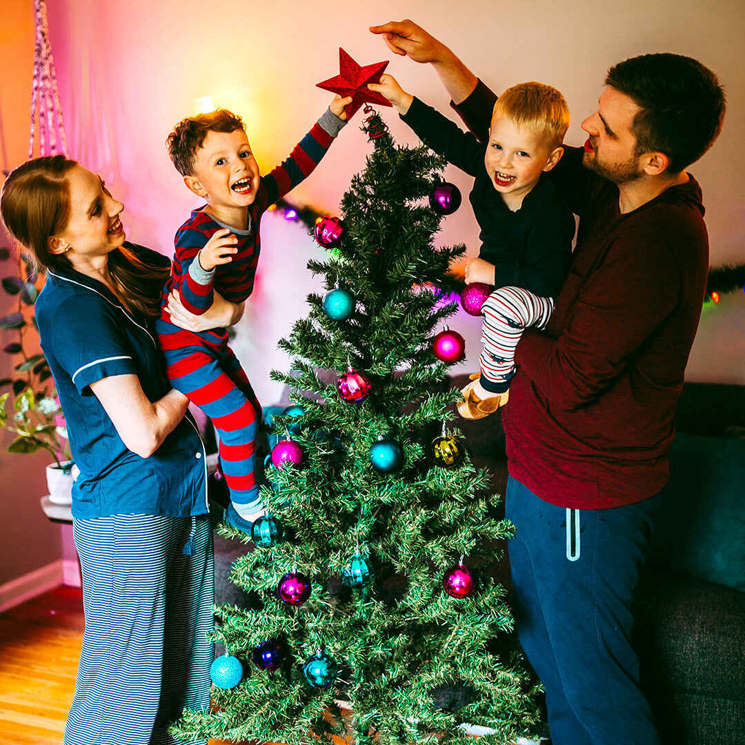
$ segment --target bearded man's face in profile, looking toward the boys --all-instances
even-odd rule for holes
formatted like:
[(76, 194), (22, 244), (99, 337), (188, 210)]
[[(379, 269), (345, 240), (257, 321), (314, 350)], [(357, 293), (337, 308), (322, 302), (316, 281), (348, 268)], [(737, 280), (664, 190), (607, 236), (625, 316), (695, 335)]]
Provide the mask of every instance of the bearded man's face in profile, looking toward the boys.
[(635, 154), (636, 138), (631, 130), (639, 107), (629, 96), (608, 86), (600, 96), (597, 111), (582, 123), (589, 134), (585, 143), (585, 168), (615, 184), (638, 179), (644, 170)]

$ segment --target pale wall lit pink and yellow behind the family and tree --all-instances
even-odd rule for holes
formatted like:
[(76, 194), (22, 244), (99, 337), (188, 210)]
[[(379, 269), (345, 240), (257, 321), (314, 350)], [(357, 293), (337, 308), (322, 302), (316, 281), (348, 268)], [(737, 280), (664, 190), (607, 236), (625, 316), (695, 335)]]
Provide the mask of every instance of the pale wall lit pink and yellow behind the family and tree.
[[(11, 165), (25, 158), (33, 40), (28, 20), (19, 19), (28, 19), (32, 5), (31, 0), (3, 3), (0, 69), (20, 71), (4, 73), (0, 83), (0, 152)], [(745, 5), (740, 1), (567, 0), (560, 14), (552, 0), (328, 0), (318, 7), (323, 10), (299, 0), (48, 4), (70, 153), (101, 173), (124, 200), (130, 239), (170, 254), (174, 229), (197, 204), (163, 146), (173, 124), (194, 112), (197, 97), (212, 95), (216, 104), (244, 115), (264, 170), (288, 153), (328, 104), (329, 93), (315, 83), (336, 74), (339, 46), (363, 65), (391, 60), (388, 70), (405, 88), (447, 112), (448, 99), (429, 66), (394, 57), (367, 31), (370, 24), (408, 16), (448, 42), (497, 91), (521, 80), (561, 89), (573, 113), (571, 145), (584, 141), (580, 122), (595, 110), (612, 63), (647, 51), (673, 51), (711, 66), (726, 85), (729, 113), (719, 142), (691, 171), (703, 186), (712, 263), (745, 261)], [(415, 142), (392, 110), (384, 115), (399, 142)], [(317, 173), (297, 189), (296, 200), (337, 209), (369, 150), (360, 122), (358, 113)], [(448, 177), (467, 191), (468, 180), (455, 169)], [(440, 240), (465, 241), (474, 256), (477, 236), (466, 206), (448, 218)], [(320, 256), (320, 249), (302, 229), (267, 218), (256, 293), (235, 343), (264, 403), (279, 396), (267, 370), (288, 367), (276, 339), (305, 314), (305, 295), (318, 286), (304, 268), (310, 256)], [(707, 309), (688, 378), (745, 383), (744, 326), (744, 293)], [(469, 360), (463, 368), (475, 369), (478, 319), (461, 314), (451, 327), (466, 336)], [(13, 473), (9, 457), (0, 457), (4, 472)]]

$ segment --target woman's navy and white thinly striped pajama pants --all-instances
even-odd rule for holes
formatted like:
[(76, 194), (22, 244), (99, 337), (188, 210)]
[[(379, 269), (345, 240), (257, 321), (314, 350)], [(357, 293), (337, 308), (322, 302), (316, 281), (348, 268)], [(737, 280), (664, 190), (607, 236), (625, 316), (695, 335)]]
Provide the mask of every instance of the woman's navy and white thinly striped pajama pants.
[[(165, 745), (183, 708), (209, 708), (214, 565), (209, 516), (74, 520), (85, 632), (64, 745)], [(199, 741), (206, 745), (206, 741)]]

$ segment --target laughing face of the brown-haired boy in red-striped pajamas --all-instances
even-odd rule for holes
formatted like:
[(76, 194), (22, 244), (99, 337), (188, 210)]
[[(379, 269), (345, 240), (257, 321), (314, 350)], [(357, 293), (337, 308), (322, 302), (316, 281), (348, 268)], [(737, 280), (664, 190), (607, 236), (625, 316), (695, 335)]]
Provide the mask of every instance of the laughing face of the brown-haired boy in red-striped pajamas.
[(208, 132), (197, 150), (194, 174), (185, 176), (184, 183), (218, 218), (243, 214), (259, 189), (259, 164), (244, 130)]

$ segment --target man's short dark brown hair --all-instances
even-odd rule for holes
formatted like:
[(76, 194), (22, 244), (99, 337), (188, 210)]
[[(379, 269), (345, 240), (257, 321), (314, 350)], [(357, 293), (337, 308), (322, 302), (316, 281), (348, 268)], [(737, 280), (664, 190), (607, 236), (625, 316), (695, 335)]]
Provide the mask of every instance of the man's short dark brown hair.
[(692, 57), (631, 57), (609, 69), (605, 84), (641, 109), (632, 124), (635, 154), (665, 153), (671, 173), (698, 160), (722, 129), (724, 90), (717, 76)]

